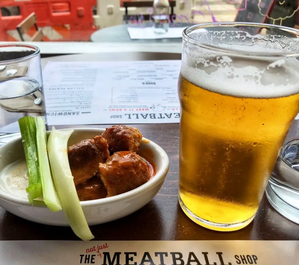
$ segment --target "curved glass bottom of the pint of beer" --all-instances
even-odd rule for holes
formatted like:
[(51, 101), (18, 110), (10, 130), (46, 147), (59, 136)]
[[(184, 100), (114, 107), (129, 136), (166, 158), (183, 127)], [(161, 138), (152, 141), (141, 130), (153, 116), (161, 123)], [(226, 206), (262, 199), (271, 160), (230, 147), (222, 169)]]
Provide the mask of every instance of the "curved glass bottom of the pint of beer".
[(184, 202), (181, 200), (181, 197), (179, 195), (179, 203), (181, 206), (181, 209), (183, 212), (195, 223), (199, 224), (200, 226), (203, 226), (205, 228), (208, 228), (210, 230), (215, 231), (222, 231), (222, 232), (230, 232), (230, 231), (236, 231), (239, 229), (244, 228), (245, 226), (248, 226), (249, 223), (254, 219), (254, 216), (249, 218), (248, 220), (242, 222), (242, 223), (213, 223), (208, 220), (202, 219), (199, 216), (195, 215), (193, 212), (191, 212), (187, 206), (184, 204)]

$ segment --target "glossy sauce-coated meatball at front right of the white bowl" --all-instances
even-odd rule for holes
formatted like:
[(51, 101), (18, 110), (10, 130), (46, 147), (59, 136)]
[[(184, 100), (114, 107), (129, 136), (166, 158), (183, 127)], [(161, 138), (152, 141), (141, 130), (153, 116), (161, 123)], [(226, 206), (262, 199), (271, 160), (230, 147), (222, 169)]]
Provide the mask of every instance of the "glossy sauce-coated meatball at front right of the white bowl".
[(135, 189), (151, 177), (147, 163), (132, 151), (114, 153), (106, 163), (99, 164), (99, 174), (106, 187), (107, 197)]

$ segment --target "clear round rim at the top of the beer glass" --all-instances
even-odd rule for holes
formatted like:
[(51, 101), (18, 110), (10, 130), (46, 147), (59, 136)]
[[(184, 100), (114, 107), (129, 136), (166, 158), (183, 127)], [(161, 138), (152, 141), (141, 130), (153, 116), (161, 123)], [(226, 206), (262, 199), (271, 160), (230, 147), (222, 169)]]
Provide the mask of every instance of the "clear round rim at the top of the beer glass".
[[(209, 23), (202, 23), (202, 24), (195, 24), (192, 26), (189, 26), (183, 30), (183, 40), (186, 42), (190, 42), (193, 45), (206, 48), (209, 50), (213, 50), (216, 52), (225, 52), (227, 54), (233, 54), (233, 55), (241, 55), (241, 56), (258, 56), (258, 57), (296, 57), (299, 56), (299, 50), (296, 51), (290, 51), (290, 52), (257, 52), (257, 51), (244, 51), (244, 50), (238, 50), (238, 49), (231, 49), (231, 48), (223, 48), (219, 47), (217, 45), (211, 45), (202, 43), (200, 41), (197, 41), (195, 39), (192, 39), (187, 34), (191, 33), (192, 31), (196, 29), (204, 29), (208, 27), (216, 27), (216, 26), (255, 26), (255, 27), (263, 27), (263, 28), (274, 28), (274, 29), (280, 29), (285, 32), (293, 33), (298, 36), (299, 38), (299, 30), (295, 28), (285, 27), (285, 26), (279, 26), (279, 25), (273, 25), (273, 24), (264, 24), (264, 23), (254, 23), (254, 22), (209, 22)], [(299, 41), (299, 39), (298, 39)]]

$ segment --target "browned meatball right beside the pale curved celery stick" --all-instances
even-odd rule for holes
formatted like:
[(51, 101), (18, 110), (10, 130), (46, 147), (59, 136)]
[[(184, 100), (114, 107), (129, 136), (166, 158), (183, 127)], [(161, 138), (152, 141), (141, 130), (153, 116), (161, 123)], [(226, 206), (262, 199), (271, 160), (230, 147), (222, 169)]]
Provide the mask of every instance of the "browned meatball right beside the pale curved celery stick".
[(68, 148), (68, 162), (75, 185), (93, 177), (99, 170), (99, 163), (109, 157), (107, 141), (102, 136), (82, 140)]

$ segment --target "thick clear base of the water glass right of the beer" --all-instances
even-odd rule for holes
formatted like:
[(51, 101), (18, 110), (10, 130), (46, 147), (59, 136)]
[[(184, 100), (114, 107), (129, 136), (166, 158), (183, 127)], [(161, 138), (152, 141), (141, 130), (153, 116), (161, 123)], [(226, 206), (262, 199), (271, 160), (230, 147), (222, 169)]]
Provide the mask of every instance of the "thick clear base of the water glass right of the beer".
[(282, 200), (275, 190), (280, 192), (282, 195), (287, 195), (288, 192), (290, 193), (290, 189), (286, 189), (283, 186), (277, 185), (277, 183), (270, 180), (266, 188), (266, 197), (277, 212), (294, 223), (299, 224), (299, 209), (296, 209)]

